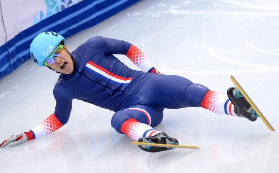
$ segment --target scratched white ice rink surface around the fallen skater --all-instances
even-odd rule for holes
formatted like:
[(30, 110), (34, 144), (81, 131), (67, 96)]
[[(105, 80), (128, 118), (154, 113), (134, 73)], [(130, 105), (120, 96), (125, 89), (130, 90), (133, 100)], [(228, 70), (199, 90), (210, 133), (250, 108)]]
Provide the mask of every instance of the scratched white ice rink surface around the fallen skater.
[[(234, 75), (279, 131), (278, 1), (141, 1), (66, 39), (74, 50), (89, 37), (127, 40), (163, 74), (226, 93)], [(129, 67), (125, 56), (116, 55)], [(54, 112), (59, 74), (31, 59), (0, 79), (0, 138), (37, 126)], [(176, 83), (173, 83), (176, 84)], [(0, 149), (0, 172), (278, 172), (279, 135), (261, 119), (202, 108), (166, 109), (156, 127), (200, 150), (147, 153), (111, 127), (114, 112), (73, 101), (69, 122), (55, 133)]]

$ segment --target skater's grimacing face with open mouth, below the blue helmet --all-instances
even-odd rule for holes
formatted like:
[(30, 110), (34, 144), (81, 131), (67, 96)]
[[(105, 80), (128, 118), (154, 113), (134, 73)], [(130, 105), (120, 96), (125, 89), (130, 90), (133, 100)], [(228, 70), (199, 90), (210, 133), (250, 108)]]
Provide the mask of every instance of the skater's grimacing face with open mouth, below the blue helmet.
[(54, 62), (47, 66), (56, 72), (71, 74), (74, 71), (74, 62), (69, 54), (67, 46), (63, 46), (58, 54), (54, 56)]

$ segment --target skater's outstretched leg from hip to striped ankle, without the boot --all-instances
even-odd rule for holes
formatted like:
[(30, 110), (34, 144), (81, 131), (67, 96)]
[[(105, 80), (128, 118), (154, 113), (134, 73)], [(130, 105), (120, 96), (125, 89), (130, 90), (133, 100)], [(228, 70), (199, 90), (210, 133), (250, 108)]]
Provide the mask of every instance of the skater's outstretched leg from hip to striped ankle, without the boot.
[(226, 95), (176, 75), (151, 75), (139, 95), (159, 108), (202, 107), (218, 114), (236, 115)]

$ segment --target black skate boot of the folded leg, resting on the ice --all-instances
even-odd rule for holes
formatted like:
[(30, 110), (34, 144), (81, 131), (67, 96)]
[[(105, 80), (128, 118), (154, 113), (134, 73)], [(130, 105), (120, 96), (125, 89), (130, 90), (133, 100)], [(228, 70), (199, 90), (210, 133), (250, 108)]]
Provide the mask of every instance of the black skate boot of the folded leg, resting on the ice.
[[(154, 137), (140, 138), (140, 139), (138, 139), (138, 142), (179, 145), (179, 142), (177, 139), (170, 138), (164, 132), (156, 134)], [(144, 145), (143, 146), (139, 145), (138, 147), (140, 147), (140, 149), (142, 149), (144, 151), (152, 152), (152, 153), (173, 149), (170, 147), (153, 147), (153, 146), (144, 146)]]

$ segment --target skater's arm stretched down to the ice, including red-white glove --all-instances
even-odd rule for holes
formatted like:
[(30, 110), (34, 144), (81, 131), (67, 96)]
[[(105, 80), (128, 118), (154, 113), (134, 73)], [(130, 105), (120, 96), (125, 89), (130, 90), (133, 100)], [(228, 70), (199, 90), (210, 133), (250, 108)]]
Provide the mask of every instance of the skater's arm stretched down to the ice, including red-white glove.
[(72, 110), (72, 99), (65, 97), (63, 93), (56, 92), (55, 90), (54, 97), (56, 99), (56, 106), (53, 114), (29, 131), (19, 135), (12, 135), (9, 139), (3, 141), (0, 147), (4, 148), (10, 143), (12, 147), (23, 144), (38, 137), (51, 134), (66, 124)]

